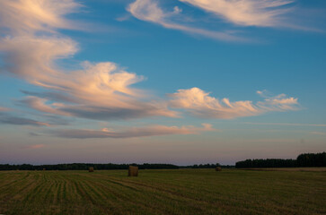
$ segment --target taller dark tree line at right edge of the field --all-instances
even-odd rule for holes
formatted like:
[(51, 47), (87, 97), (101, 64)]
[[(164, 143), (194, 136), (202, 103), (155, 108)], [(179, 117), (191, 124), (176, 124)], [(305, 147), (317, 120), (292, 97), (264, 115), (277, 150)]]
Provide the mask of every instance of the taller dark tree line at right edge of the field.
[(246, 159), (235, 163), (235, 168), (302, 168), (326, 167), (326, 152), (304, 153), (296, 159)]

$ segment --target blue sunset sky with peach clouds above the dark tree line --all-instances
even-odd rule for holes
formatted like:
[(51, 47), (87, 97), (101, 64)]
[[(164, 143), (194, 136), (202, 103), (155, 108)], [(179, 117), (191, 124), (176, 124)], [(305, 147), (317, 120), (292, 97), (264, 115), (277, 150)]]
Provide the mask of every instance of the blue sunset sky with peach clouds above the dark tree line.
[(326, 150), (324, 0), (0, 2), (0, 163)]

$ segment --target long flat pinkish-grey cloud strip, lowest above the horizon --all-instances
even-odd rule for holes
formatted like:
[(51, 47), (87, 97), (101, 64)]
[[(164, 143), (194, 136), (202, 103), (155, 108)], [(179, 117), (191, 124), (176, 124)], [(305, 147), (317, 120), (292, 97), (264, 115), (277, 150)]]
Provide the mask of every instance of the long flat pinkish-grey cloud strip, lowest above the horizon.
[(194, 126), (165, 126), (165, 125), (150, 125), (145, 127), (132, 127), (123, 131), (113, 131), (107, 128), (101, 131), (96, 130), (55, 130), (51, 133), (65, 138), (132, 138), (145, 136), (161, 136), (171, 134), (196, 134), (201, 132), (216, 131), (212, 125), (203, 124), (203, 127)]

